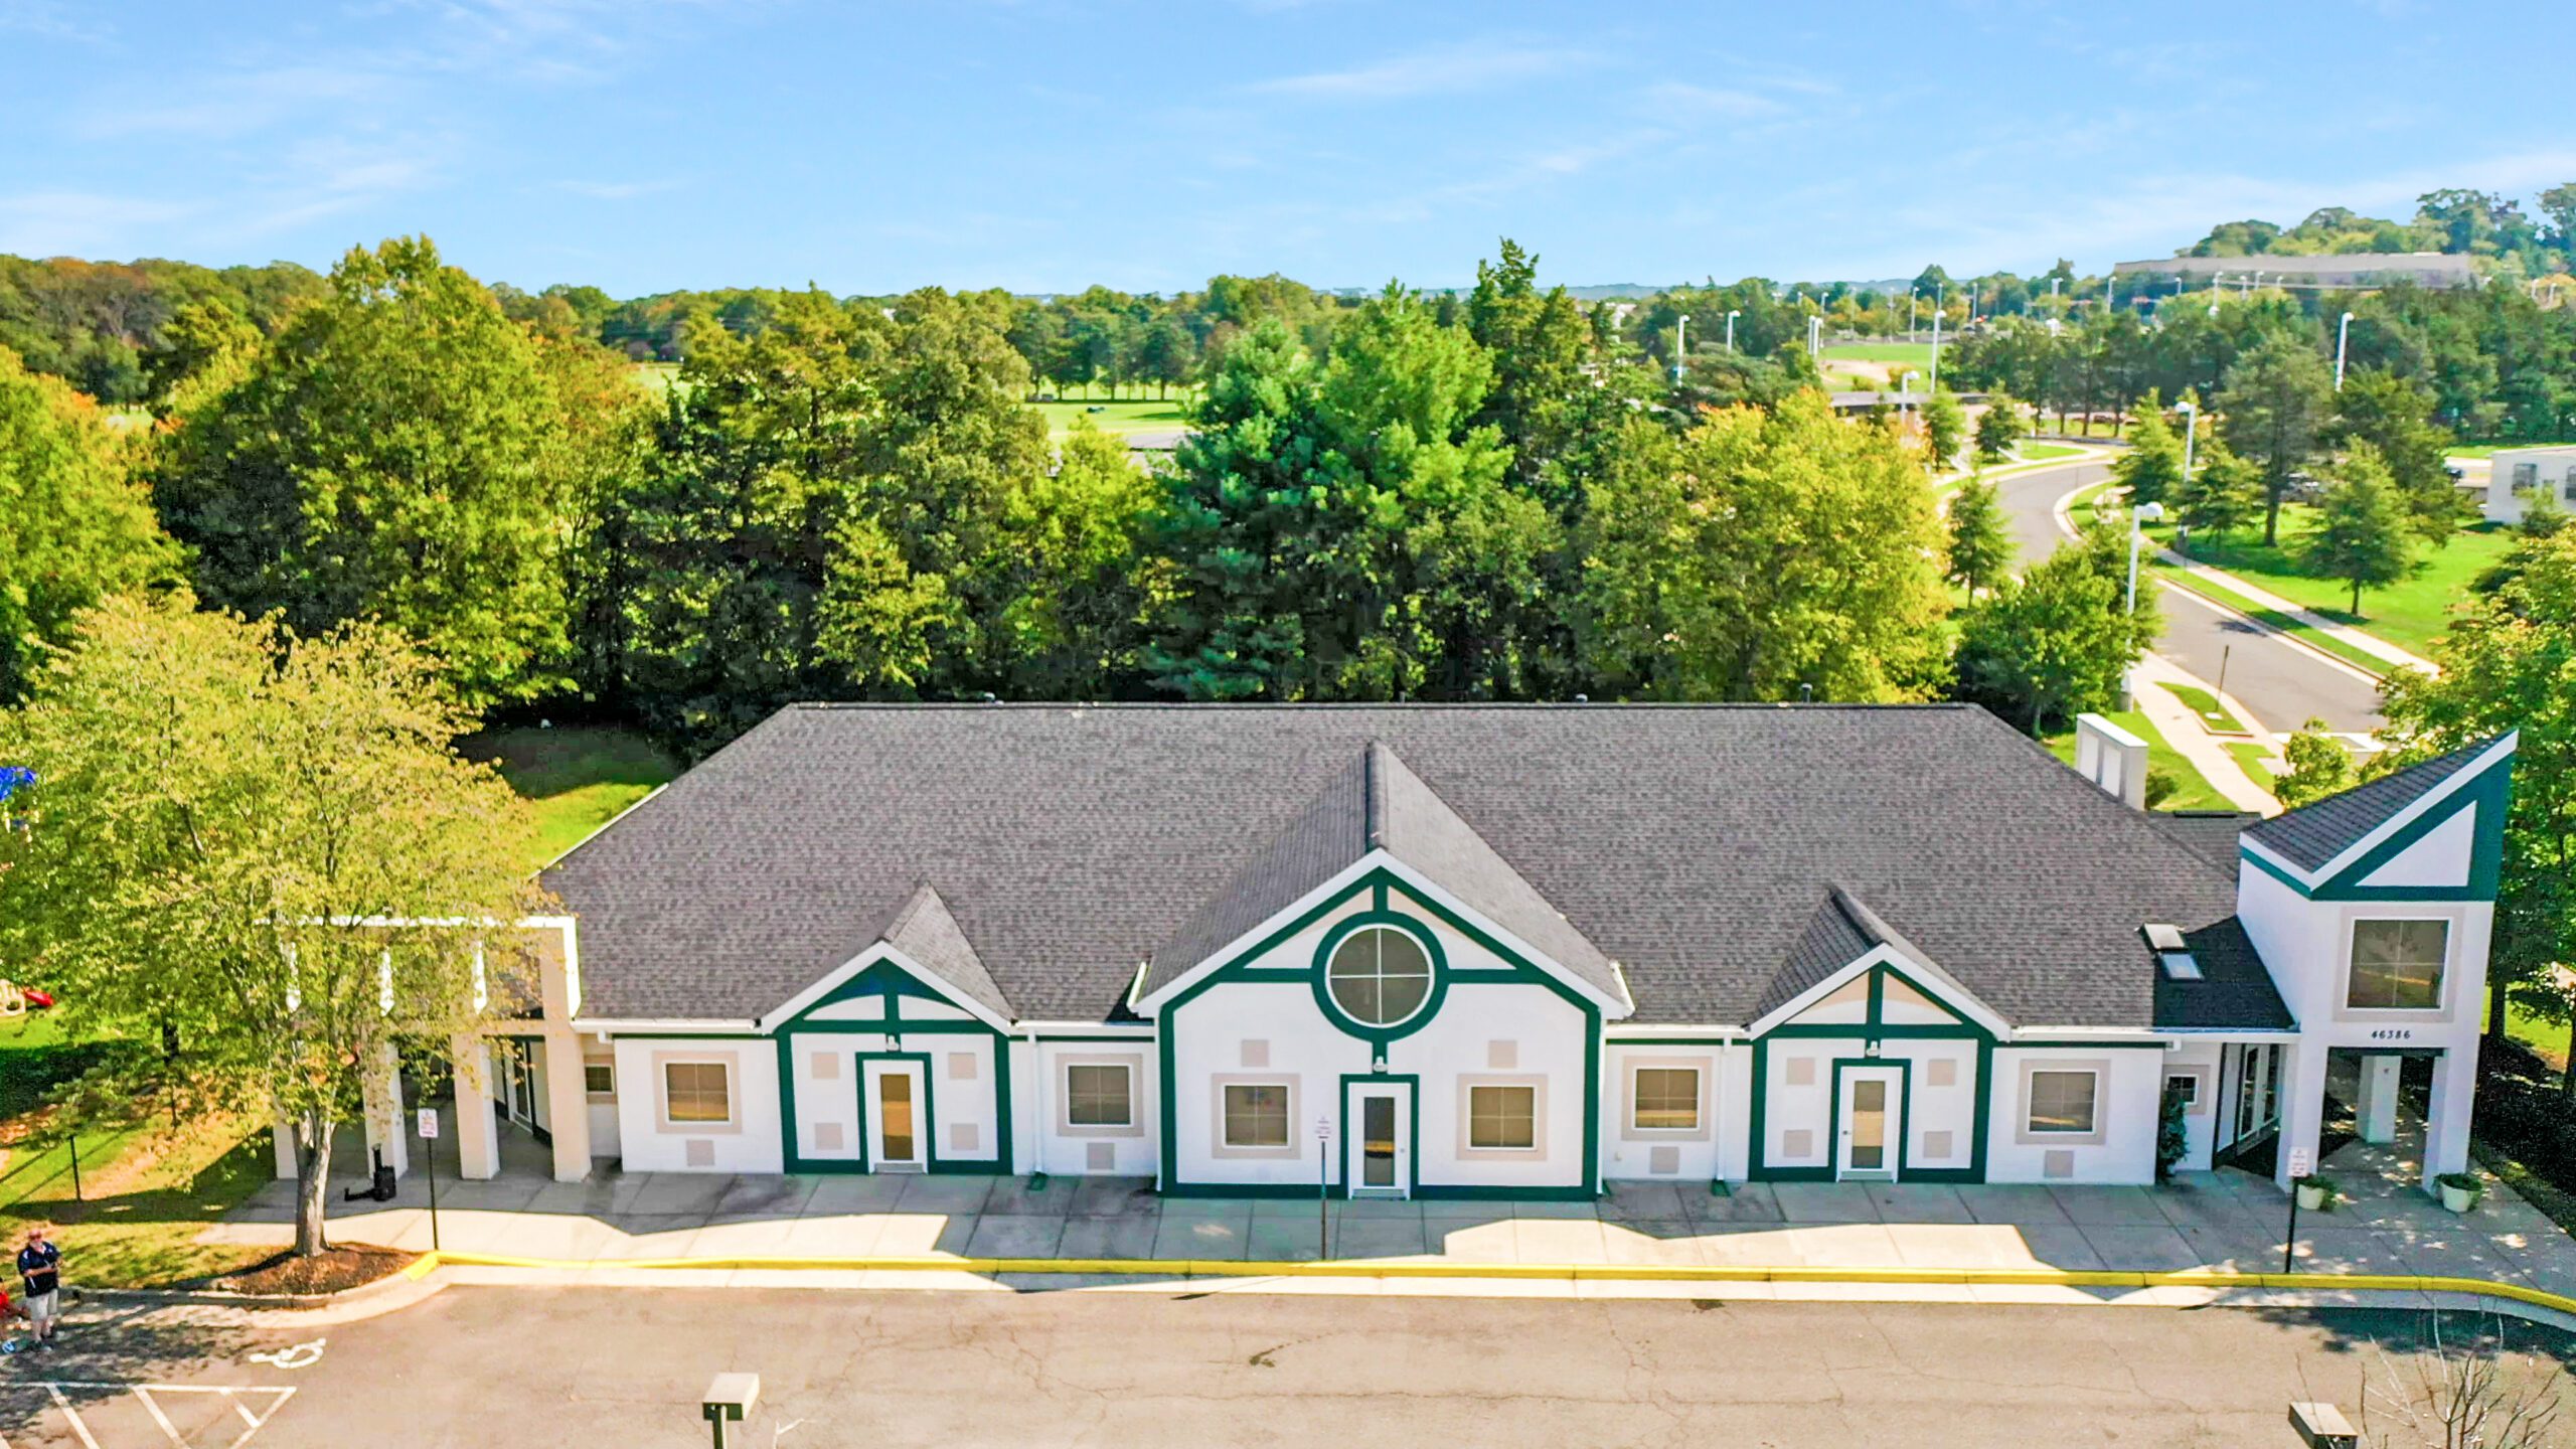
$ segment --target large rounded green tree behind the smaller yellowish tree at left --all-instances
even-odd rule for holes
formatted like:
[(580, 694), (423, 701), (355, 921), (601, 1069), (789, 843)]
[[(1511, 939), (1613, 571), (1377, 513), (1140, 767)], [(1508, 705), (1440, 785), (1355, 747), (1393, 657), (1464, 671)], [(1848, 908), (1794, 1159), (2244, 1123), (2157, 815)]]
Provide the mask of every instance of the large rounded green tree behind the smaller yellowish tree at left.
[(155, 503), (209, 603), (384, 619), (479, 709), (562, 683), (564, 431), (538, 340), (425, 237), (392, 240), (180, 420)]

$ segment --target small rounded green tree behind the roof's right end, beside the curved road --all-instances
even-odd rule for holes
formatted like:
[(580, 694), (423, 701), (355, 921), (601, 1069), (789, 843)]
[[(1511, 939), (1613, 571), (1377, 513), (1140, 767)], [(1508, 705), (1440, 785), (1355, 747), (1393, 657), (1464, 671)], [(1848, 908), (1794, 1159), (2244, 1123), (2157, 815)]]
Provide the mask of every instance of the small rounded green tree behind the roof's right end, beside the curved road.
[(2112, 709), (2143, 652), (2099, 549), (2063, 544), (1960, 616), (1958, 688), (2030, 735)]

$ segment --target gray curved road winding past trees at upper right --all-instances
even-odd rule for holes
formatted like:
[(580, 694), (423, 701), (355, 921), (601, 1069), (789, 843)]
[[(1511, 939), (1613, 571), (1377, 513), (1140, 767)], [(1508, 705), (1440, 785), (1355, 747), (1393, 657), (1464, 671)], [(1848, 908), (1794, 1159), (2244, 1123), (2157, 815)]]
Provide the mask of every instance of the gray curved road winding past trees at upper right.
[[(2079, 462), (1996, 480), (2025, 562), (2048, 557), (2066, 541), (2056, 518), (2058, 498), (2105, 477), (2110, 477), (2107, 464)], [(2148, 578), (2138, 583), (2146, 585)], [(2156, 583), (2164, 588), (2164, 639), (2156, 642), (2156, 652), (2208, 683), (2218, 683), (2223, 670), (2228, 696), (2254, 712), (2249, 724), (2257, 730), (2287, 732), (2308, 719), (2324, 719), (2329, 730), (2349, 735), (2378, 730), (2380, 686), (2370, 676), (2293, 645), (2187, 588)]]

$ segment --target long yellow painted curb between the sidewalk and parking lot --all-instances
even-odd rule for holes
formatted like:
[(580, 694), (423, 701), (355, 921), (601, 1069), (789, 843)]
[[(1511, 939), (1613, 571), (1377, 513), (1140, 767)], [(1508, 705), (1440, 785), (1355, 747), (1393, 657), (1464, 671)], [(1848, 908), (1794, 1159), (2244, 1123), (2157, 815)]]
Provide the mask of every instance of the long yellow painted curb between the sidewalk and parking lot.
[(1803, 1269), (1803, 1266), (1656, 1266), (1656, 1263), (1425, 1263), (1425, 1261), (1327, 1261), (1327, 1263), (1239, 1263), (1224, 1258), (951, 1258), (925, 1253), (912, 1258), (510, 1258), (500, 1253), (422, 1253), (404, 1276), (428, 1276), (440, 1266), (459, 1269), (541, 1269), (580, 1274), (592, 1269), (647, 1271), (845, 1271), (845, 1274), (1092, 1274), (1092, 1276), (1180, 1276), (1180, 1279), (1517, 1279), (1517, 1281), (1664, 1281), (1664, 1284), (1963, 1284), (1963, 1287), (2074, 1287), (2074, 1289), (2370, 1289), (2370, 1292), (2463, 1292), (2527, 1302), (2576, 1315), (2576, 1297), (2527, 1284), (2455, 1279), (2424, 1274), (2236, 1274), (2184, 1269), (2169, 1274), (2112, 1269)]

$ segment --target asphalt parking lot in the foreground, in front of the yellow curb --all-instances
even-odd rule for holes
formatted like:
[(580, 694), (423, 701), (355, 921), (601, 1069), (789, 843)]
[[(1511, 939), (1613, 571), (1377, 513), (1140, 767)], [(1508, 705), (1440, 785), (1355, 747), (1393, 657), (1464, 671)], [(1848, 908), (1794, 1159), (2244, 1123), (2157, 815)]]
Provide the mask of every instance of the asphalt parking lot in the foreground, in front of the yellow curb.
[[(317, 1330), (183, 1310), (0, 1361), (10, 1449), (2287, 1444), (2427, 1318), (2372, 1310), (451, 1287)], [(2452, 1341), (2496, 1328), (2455, 1315)], [(2558, 1364), (2576, 1341), (2522, 1323)], [(2550, 1369), (2563, 1382), (2563, 1369)]]

